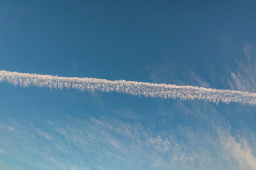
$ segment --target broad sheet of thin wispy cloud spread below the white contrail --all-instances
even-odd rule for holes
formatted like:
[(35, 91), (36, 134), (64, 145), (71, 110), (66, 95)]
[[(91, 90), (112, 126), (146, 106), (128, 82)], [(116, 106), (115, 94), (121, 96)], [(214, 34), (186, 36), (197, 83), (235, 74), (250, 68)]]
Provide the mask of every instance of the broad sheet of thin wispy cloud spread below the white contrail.
[[(194, 103), (191, 102), (193, 108)], [(86, 119), (65, 115), (51, 120), (53, 124), (37, 119), (39, 124), (33, 122), (29, 126), (7, 121), (17, 130), (2, 131), (5, 137), (0, 138), (0, 146), (11, 160), (32, 169), (42, 163), (44, 170), (255, 169), (251, 149), (255, 143), (245, 141), (251, 137), (236, 139), (228, 122), (221, 119), (222, 114), (214, 110), (215, 106), (204, 104), (191, 112), (202, 112), (205, 119), (190, 114), (186, 124), (180, 122), (171, 128), (109, 115), (100, 118), (87, 115)], [(186, 119), (187, 113), (180, 114)], [(196, 124), (190, 123), (192, 117)], [(47, 129), (43, 129), (46, 124)], [(52, 139), (37, 137), (38, 132), (42, 136), (47, 132)]]

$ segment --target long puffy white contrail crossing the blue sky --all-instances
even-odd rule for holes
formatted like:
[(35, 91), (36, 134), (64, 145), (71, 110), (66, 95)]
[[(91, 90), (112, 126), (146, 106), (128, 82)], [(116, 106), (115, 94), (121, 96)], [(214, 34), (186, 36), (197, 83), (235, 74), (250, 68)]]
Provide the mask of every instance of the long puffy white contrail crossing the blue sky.
[(37, 86), (49, 88), (74, 88), (81, 91), (118, 92), (135, 96), (172, 98), (180, 100), (206, 100), (213, 103), (256, 105), (256, 93), (219, 90), (196, 86), (157, 84), (126, 80), (106, 80), (97, 78), (59, 77), (30, 73), (0, 71), (0, 82), (8, 82), (21, 87)]

